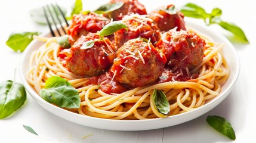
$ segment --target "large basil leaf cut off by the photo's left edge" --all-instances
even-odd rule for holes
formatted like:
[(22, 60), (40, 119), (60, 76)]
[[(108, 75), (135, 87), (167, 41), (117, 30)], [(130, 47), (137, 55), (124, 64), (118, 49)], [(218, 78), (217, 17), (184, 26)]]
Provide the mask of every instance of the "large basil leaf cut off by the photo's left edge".
[(0, 119), (18, 110), (26, 101), (27, 93), (21, 83), (6, 80), (0, 84)]

